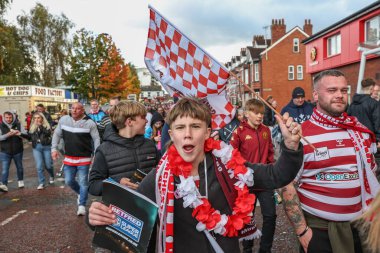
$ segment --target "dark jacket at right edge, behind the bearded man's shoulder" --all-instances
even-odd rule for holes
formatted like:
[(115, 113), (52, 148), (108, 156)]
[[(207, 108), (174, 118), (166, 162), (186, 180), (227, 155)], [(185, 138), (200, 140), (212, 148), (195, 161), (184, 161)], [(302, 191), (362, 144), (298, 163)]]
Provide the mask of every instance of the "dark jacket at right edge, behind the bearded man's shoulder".
[(355, 116), (380, 140), (380, 105), (367, 94), (355, 94), (347, 110), (348, 115)]

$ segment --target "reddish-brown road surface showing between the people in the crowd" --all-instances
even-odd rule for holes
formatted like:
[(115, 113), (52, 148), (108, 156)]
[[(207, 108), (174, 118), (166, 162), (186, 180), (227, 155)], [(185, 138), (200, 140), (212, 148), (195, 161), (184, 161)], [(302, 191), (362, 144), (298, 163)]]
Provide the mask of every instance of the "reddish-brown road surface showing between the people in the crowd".
[[(57, 177), (54, 184), (37, 190), (37, 170), (29, 143), (25, 143), (23, 164), (25, 187), (18, 188), (12, 162), (9, 192), (0, 192), (0, 253), (94, 252), (93, 231), (86, 225), (84, 216), (76, 215), (77, 195), (64, 185), (63, 178)], [(54, 163), (55, 173), (60, 166), (61, 160)], [(48, 179), (48, 174), (45, 175)], [(96, 199), (89, 195), (89, 203)], [(255, 215), (261, 228), (259, 206)], [(282, 206), (277, 206), (272, 252), (298, 252), (296, 242)], [(258, 251), (258, 245), (257, 240), (253, 252)]]

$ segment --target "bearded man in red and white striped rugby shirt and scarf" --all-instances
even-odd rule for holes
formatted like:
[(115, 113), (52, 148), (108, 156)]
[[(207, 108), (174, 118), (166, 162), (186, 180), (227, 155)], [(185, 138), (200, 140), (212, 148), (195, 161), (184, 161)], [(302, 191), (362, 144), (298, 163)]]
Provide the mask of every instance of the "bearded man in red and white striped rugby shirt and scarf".
[(376, 137), (347, 116), (344, 74), (326, 70), (314, 78), (317, 102), (302, 124), (304, 163), (295, 184), (282, 189), (284, 208), (301, 252), (362, 252), (350, 221), (368, 207), (379, 190), (374, 176)]

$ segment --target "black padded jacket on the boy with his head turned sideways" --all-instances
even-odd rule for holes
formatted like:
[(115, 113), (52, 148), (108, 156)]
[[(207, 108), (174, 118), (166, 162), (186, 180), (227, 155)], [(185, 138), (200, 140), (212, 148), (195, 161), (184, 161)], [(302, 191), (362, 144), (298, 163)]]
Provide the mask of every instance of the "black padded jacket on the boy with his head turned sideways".
[(143, 135), (124, 138), (110, 124), (106, 127), (103, 143), (96, 150), (88, 190), (92, 195), (100, 196), (104, 179), (111, 177), (120, 182), (121, 178), (131, 178), (136, 169), (148, 174), (158, 161), (158, 152), (152, 140)]

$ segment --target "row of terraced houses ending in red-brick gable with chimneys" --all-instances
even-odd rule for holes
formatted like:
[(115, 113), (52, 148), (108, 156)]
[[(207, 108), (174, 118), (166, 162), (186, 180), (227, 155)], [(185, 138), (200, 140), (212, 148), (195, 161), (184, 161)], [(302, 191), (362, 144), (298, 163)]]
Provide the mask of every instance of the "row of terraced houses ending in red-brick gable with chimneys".
[[(305, 20), (303, 29), (296, 26), (286, 32), (283, 19), (272, 20), (272, 39), (255, 35), (252, 46), (242, 48), (226, 67), (263, 98), (272, 95), (278, 110), (290, 101), (297, 86), (305, 89), (306, 99), (311, 99), (311, 79), (305, 73), (305, 46), (301, 42), (312, 34), (312, 28), (310, 20)], [(229, 81), (229, 94), (235, 104), (253, 97), (251, 90), (234, 78)]]

